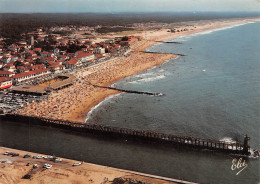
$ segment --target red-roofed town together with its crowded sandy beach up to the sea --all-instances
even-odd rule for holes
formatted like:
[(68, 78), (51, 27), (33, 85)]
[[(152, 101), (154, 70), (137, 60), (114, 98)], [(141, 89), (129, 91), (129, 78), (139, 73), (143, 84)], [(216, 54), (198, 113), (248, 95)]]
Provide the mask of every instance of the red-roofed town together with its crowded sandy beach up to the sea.
[(100, 26), (40, 27), (23, 33), (16, 43), (2, 39), (0, 111), (85, 123), (95, 105), (119, 93), (90, 84), (109, 86), (179, 56), (144, 52), (149, 46), (247, 21), (184, 22), (174, 27), (139, 23), (133, 24), (135, 30), (103, 34), (97, 32)]

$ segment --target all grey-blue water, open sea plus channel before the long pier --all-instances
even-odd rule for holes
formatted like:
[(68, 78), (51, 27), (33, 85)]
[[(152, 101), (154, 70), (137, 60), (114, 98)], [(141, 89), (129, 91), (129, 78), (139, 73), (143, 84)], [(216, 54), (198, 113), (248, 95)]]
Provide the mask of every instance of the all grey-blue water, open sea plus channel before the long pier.
[[(164, 96), (109, 97), (92, 110), (87, 123), (240, 142), (248, 134), (251, 147), (259, 150), (259, 32), (260, 22), (255, 22), (148, 48), (186, 56), (113, 85)], [(241, 168), (231, 169), (234, 155), (85, 137), (30, 122), (1, 121), (0, 145), (198, 183), (260, 181), (259, 159), (246, 159), (248, 166), (236, 175)]]

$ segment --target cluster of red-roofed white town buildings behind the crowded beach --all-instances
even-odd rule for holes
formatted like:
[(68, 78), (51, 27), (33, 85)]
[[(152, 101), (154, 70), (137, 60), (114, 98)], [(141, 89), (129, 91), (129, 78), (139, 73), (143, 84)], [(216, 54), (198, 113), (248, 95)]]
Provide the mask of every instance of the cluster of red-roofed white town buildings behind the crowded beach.
[[(12, 44), (1, 40), (0, 89), (104, 61), (126, 51), (140, 39), (134, 36), (98, 39), (92, 34), (95, 29), (88, 26), (38, 28), (22, 34), (23, 39)], [(77, 31), (85, 33), (73, 34)]]

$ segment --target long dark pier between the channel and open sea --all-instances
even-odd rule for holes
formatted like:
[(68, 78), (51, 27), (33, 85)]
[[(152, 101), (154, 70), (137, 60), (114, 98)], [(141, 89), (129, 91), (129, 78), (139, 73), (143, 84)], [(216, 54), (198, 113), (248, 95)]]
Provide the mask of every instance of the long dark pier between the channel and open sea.
[(175, 147), (189, 147), (194, 149), (213, 150), (225, 153), (249, 155), (249, 137), (244, 137), (244, 144), (239, 142), (227, 143), (210, 139), (200, 139), (191, 136), (177, 136), (163, 134), (154, 131), (133, 130), (127, 128), (110, 127), (98, 124), (82, 124), (79, 122), (71, 122), (65, 120), (54, 120), (41, 117), (31, 117), (23, 115), (6, 114), (1, 118), (6, 120), (14, 120), (30, 124), (38, 124), (43, 126), (56, 127), (66, 129), (73, 132), (84, 134), (93, 134), (101, 137), (114, 137), (123, 140), (143, 141), (159, 144), (167, 144)]

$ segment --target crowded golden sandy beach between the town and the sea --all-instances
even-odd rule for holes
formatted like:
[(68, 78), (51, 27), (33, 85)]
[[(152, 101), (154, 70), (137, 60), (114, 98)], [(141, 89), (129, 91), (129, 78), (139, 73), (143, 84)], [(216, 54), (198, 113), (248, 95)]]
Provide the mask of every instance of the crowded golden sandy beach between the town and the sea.
[(118, 93), (118, 91), (115, 90), (95, 88), (89, 85), (89, 82), (96, 85), (108, 86), (117, 80), (158, 66), (165, 61), (177, 57), (177, 55), (174, 54), (141, 52), (154, 44), (158, 44), (158, 42), (155, 41), (167, 40), (230, 25), (243, 24), (250, 21), (256, 20), (230, 19), (198, 21), (182, 23), (176, 26), (178, 30), (186, 29), (186, 31), (171, 33), (169, 29), (162, 29), (159, 31), (139, 33), (138, 36), (142, 36), (143, 39), (131, 45), (133, 52), (130, 56), (117, 57), (91, 68), (82, 69), (75, 74), (78, 80), (74, 85), (54, 92), (49, 95), (48, 99), (39, 103), (31, 103), (24, 109), (17, 110), (14, 113), (84, 123), (88, 112), (93, 106), (103, 101), (106, 97)]

